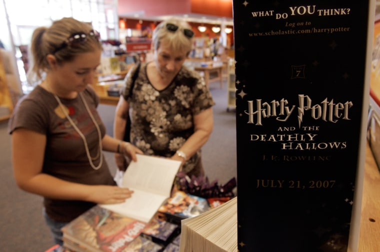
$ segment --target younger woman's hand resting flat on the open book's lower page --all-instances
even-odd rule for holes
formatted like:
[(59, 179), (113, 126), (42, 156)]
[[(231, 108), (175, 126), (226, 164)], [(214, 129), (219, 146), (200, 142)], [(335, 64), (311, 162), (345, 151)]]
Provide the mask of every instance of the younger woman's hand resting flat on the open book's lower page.
[(92, 186), (87, 201), (97, 204), (118, 204), (132, 196), (133, 191), (118, 186)]

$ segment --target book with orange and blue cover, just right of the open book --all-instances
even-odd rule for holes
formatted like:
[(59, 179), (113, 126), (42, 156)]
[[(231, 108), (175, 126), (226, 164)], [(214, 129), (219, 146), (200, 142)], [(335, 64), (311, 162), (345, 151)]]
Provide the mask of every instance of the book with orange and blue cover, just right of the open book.
[(198, 216), (210, 209), (206, 199), (177, 191), (159, 209), (168, 222), (180, 225), (180, 220)]

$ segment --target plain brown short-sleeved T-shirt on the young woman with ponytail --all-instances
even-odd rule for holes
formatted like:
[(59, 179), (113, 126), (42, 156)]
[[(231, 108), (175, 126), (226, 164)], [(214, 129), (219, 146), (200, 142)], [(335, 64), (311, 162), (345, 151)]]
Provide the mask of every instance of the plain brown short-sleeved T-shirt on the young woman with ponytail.
[[(99, 99), (90, 86), (83, 91), (83, 97), (103, 137), (105, 127), (96, 111)], [(97, 166), (100, 161), (98, 134), (80, 96), (60, 100), (67, 107), (72, 121), (85, 136), (90, 156), (94, 158), (92, 162)], [(46, 135), (42, 173), (87, 185), (115, 185), (104, 157), (98, 170), (90, 166), (83, 140), (61, 113), (54, 96), (42, 87), (36, 86), (15, 106), (8, 123), (9, 134), (17, 128), (27, 128)], [(46, 197), (43, 203), (47, 215), (58, 222), (69, 222), (95, 205), (90, 202)]]

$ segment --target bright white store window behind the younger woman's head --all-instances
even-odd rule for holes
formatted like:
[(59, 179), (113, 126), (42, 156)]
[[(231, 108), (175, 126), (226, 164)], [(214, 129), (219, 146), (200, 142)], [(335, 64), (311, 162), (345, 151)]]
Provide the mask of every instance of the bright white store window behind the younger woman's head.
[[(22, 93), (32, 88), (26, 82), (27, 48), (33, 30), (53, 20), (71, 16), (89, 22), (102, 40), (118, 39), (117, 0), (3, 0), (0, 4), (1, 42), (17, 61)], [(22, 7), (20, 7), (22, 6)], [(4, 15), (3, 15), (4, 13)]]

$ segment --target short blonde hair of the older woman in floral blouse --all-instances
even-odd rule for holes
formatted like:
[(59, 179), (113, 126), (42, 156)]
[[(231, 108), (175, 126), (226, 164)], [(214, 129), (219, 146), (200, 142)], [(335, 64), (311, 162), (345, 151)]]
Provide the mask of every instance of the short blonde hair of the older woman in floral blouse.
[[(166, 29), (166, 24), (172, 23), (178, 26), (176, 31), (170, 31)], [(183, 33), (183, 29), (190, 29), (191, 26), (184, 20), (170, 18), (160, 22), (152, 34), (152, 43), (154, 50), (157, 50), (160, 43), (164, 41), (169, 47), (177, 52), (186, 52), (187, 54), (191, 51), (193, 39), (186, 37)]]

